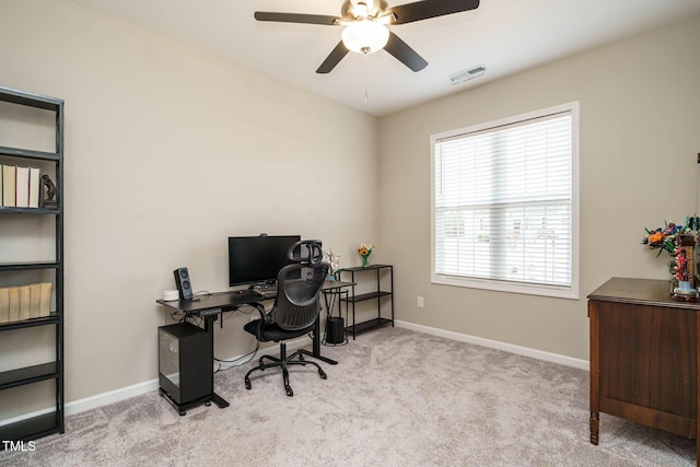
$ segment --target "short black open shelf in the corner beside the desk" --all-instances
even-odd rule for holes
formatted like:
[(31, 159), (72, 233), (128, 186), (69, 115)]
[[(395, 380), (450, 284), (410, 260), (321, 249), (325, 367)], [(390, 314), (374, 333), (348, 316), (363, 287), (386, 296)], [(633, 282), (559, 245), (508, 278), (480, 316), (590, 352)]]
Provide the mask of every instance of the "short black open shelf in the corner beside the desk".
[[(355, 276), (366, 276), (368, 272), (374, 272), (374, 279), (376, 280), (376, 287), (372, 292), (368, 293), (355, 293), (355, 287), (358, 281), (355, 280)], [(387, 272), (386, 276), (388, 278), (384, 278), (383, 272)], [(376, 329), (381, 326), (392, 325), (394, 326), (394, 266), (392, 265), (370, 265), (366, 267), (357, 267), (357, 268), (346, 268), (340, 271), (340, 275), (350, 275), (350, 282), (352, 285), (352, 294), (347, 299), (341, 299), (343, 302), (348, 302), (352, 305), (352, 325), (347, 326), (346, 330), (348, 334), (352, 335), (352, 340), (362, 334), (372, 329)], [(388, 279), (388, 290), (385, 288)], [(392, 316), (390, 318), (386, 316), (382, 316), (382, 303), (385, 300), (389, 301)], [(364, 302), (368, 300), (376, 301), (376, 318), (368, 319), (365, 322), (357, 323), (355, 322), (355, 304), (358, 302)]]

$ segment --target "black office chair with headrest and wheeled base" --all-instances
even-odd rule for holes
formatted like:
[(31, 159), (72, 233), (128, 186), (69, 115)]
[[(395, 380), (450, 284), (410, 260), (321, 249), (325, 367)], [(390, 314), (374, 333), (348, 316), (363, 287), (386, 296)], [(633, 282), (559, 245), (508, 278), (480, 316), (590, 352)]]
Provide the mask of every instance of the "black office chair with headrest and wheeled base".
[[(295, 243), (289, 250), (288, 257), (298, 261), (284, 266), (277, 275), (277, 299), (269, 313), (261, 307), (258, 310), (260, 319), (247, 323), (244, 329), (250, 332), (259, 342), (280, 342), (280, 358), (262, 355), (258, 366), (245, 375), (245, 388), (250, 389), (250, 373), (272, 366), (282, 367), (284, 389), (289, 397), (294, 396), (289, 385), (290, 365), (314, 365), (318, 369), (322, 380), (326, 373), (316, 362), (304, 360), (304, 355), (296, 351), (287, 357), (287, 340), (294, 339), (314, 329), (320, 312), (318, 293), (328, 275), (330, 266), (322, 262), (323, 250), (319, 241), (302, 241)], [(270, 363), (265, 363), (265, 359)]]

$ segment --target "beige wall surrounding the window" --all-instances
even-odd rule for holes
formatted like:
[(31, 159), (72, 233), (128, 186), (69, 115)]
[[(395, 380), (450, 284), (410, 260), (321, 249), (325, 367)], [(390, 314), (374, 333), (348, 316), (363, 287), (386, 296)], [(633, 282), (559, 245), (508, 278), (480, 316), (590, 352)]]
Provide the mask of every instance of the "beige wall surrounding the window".
[[(640, 245), (643, 227), (697, 212), (698, 50), (695, 17), (382, 118), (380, 225), (397, 317), (587, 360), (586, 295), (612, 276), (666, 279), (666, 258)], [(430, 135), (571, 101), (581, 105), (580, 300), (431, 284)]]

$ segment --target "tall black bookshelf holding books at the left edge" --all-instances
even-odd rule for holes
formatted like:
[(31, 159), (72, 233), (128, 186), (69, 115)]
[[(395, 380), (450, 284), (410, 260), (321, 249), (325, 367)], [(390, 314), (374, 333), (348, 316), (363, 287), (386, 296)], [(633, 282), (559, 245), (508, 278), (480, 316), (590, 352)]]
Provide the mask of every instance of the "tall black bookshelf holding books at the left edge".
[[(54, 217), (56, 230), (54, 238), (47, 242), (55, 242), (55, 258), (40, 261), (18, 261), (0, 262), (0, 275), (4, 282), (12, 283), (13, 275), (22, 272), (25, 278), (27, 271), (42, 273), (43, 271), (54, 271), (52, 289), (55, 294), (55, 310), (49, 316), (15, 320), (0, 324), (0, 332), (23, 332), (23, 329), (37, 326), (52, 326), (55, 328), (55, 358), (50, 362), (19, 367), (0, 373), (0, 393), (5, 389), (27, 386), (40, 382), (52, 381), (55, 384), (55, 407), (51, 411), (38, 417), (28, 417), (14, 423), (0, 427), (0, 440), (2, 441), (30, 441), (49, 434), (62, 433), (65, 431), (63, 415), (63, 101), (60, 98), (32, 94), (9, 87), (0, 86), (0, 102), (7, 102), (21, 106), (33, 107), (51, 112), (56, 117), (56, 151), (45, 152), (21, 148), (10, 148), (1, 145), (0, 141), (0, 163), (16, 165), (42, 161), (43, 164), (52, 166), (55, 170), (54, 180), (56, 185), (57, 206), (40, 208), (14, 208), (0, 207), (0, 215), (5, 217), (3, 222), (23, 222), (26, 217), (49, 215)], [(39, 195), (40, 196), (40, 195)], [(12, 214), (12, 215), (11, 215)], [(20, 215), (16, 215), (20, 214)], [(1, 241), (1, 238), (0, 238)], [(20, 281), (23, 279), (19, 279)], [(21, 285), (22, 283), (18, 283)], [(0, 336), (0, 338), (2, 338)], [(40, 343), (37, 343), (40, 345)], [(0, 354), (0, 359), (2, 355)], [(0, 397), (2, 395), (0, 394)], [(0, 450), (4, 444), (0, 445)]]

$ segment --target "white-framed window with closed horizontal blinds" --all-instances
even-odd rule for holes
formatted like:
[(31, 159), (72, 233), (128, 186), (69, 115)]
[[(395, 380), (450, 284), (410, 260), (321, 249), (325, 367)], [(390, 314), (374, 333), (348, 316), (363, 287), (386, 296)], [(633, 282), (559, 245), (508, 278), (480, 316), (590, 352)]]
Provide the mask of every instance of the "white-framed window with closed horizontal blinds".
[(431, 137), (432, 281), (579, 297), (570, 103)]

